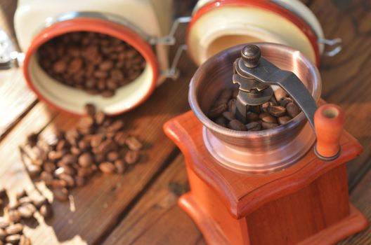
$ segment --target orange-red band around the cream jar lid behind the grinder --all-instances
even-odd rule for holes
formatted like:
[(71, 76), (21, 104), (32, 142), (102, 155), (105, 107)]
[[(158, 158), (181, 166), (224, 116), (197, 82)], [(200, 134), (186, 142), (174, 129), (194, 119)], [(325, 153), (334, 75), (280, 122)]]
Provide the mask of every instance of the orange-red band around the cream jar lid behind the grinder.
[[(265, 10), (270, 10), (273, 13), (277, 13), (278, 15), (286, 18), (294, 25), (296, 25), (301, 31), (305, 34), (308, 41), (311, 43), (313, 51), (315, 53), (315, 64), (316, 66), (320, 65), (320, 48), (318, 45), (318, 36), (306, 21), (300, 18), (298, 15), (293, 13), (292, 11), (284, 8), (278, 3), (265, 1), (265, 0), (214, 0), (207, 3), (204, 3), (197, 11), (195, 11), (192, 19), (187, 28), (187, 36), (190, 34), (190, 29), (192, 29), (193, 25), (202, 17), (202, 15), (209, 13), (209, 11), (214, 10), (215, 8), (220, 8), (222, 6), (254, 6), (256, 8), (262, 8)], [(188, 42), (188, 38), (187, 38)], [(193, 57), (193, 54), (190, 53), (190, 56), (193, 60), (196, 60)]]

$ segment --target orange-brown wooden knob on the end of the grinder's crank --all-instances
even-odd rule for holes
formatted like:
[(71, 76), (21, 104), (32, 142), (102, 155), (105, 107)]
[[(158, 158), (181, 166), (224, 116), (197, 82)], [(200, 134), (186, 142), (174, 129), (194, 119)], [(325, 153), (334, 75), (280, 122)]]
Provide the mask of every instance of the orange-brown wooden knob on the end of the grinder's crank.
[(324, 160), (337, 158), (344, 123), (344, 111), (337, 105), (325, 104), (315, 111), (314, 127), (317, 135), (315, 153), (318, 157)]

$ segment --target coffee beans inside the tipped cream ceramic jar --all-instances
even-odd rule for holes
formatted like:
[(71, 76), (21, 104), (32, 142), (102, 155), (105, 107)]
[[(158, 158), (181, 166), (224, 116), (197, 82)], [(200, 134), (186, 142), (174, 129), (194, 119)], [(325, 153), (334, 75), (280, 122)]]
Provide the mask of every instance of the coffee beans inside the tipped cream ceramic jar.
[(128, 43), (94, 32), (70, 32), (38, 51), (41, 68), (64, 85), (112, 97), (141, 75), (145, 59)]

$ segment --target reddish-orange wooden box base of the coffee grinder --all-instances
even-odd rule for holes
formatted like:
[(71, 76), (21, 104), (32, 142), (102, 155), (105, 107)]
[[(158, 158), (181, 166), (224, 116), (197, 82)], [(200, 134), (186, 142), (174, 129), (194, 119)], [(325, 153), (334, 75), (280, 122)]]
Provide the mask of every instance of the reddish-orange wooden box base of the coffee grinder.
[(209, 244), (334, 244), (367, 228), (349, 202), (345, 163), (362, 147), (347, 132), (336, 160), (324, 162), (312, 148), (280, 172), (239, 174), (209, 155), (192, 111), (164, 130), (186, 158), (190, 192), (178, 204)]

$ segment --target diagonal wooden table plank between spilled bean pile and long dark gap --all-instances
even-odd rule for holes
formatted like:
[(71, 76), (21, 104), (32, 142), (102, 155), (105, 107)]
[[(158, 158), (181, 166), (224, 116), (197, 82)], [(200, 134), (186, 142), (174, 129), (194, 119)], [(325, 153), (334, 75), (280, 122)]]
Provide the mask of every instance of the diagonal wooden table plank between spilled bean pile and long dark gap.
[[(188, 67), (187, 70), (191, 72), (192, 69)], [(157, 172), (167, 165), (167, 158), (172, 158), (171, 153), (176, 148), (162, 132), (162, 124), (188, 109), (187, 87), (188, 80), (167, 80), (148, 102), (122, 116), (129, 130), (137, 134), (148, 148), (148, 155), (142, 164), (122, 176), (100, 174), (91, 179), (86, 187), (72, 190), (75, 212), (70, 211), (67, 203), (53, 202), (55, 216), (47, 224), (41, 221), (30, 232), (32, 241), (37, 244), (54, 244), (63, 241), (73, 243), (76, 239), (82, 239), (94, 244), (100, 242), (106, 233), (109, 234), (131, 202), (145, 190)], [(58, 113), (41, 136), (47, 137), (55, 128), (65, 130), (74, 127), (76, 121), (75, 117)], [(11, 165), (11, 162), (4, 164)]]

